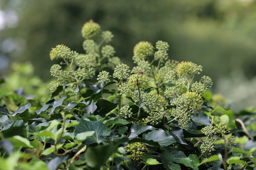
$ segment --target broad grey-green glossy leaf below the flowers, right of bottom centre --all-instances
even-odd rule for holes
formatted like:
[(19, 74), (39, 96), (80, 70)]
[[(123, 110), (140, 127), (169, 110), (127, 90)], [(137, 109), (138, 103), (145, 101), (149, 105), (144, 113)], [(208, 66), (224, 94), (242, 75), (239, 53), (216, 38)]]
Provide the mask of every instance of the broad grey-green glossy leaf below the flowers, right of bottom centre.
[(164, 130), (153, 130), (147, 134), (143, 134), (143, 139), (158, 142), (161, 147), (169, 146), (176, 142), (173, 136), (169, 136)]

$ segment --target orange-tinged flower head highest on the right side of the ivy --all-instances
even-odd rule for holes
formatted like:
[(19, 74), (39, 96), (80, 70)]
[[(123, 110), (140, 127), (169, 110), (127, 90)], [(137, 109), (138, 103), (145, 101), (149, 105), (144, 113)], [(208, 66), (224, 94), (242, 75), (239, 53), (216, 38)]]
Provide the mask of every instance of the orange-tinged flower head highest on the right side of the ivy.
[(182, 77), (182, 76), (188, 76), (191, 74), (200, 74), (200, 71), (203, 71), (201, 65), (197, 65), (191, 61), (182, 61), (177, 65), (177, 76)]

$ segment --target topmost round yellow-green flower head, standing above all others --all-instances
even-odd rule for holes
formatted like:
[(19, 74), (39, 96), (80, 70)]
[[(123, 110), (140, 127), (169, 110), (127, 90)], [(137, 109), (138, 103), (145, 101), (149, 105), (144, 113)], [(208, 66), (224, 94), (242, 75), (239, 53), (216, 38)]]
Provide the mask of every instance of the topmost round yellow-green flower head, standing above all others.
[(82, 27), (82, 36), (85, 39), (91, 39), (95, 36), (98, 36), (101, 31), (101, 26), (97, 23), (94, 23), (93, 20), (86, 22)]

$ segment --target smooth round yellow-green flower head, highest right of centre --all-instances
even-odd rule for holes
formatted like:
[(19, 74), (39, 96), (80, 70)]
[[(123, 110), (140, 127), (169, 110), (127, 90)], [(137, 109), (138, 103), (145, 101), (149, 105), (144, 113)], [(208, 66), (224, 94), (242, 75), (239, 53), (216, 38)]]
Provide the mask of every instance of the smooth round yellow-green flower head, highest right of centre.
[(154, 54), (154, 47), (150, 42), (141, 41), (133, 48), (133, 55), (139, 59), (144, 59), (147, 56)]

